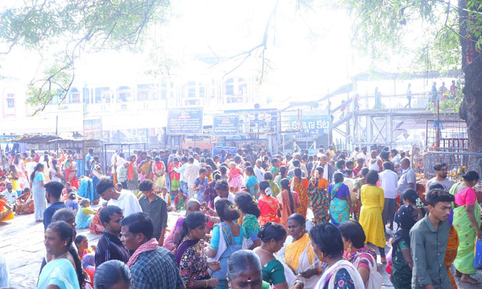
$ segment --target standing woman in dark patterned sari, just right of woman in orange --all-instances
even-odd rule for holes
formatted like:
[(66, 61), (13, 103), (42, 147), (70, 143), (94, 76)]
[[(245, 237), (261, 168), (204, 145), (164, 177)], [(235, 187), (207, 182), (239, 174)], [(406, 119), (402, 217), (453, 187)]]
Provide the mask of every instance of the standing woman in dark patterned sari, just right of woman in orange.
[(308, 184), (308, 197), (310, 200), (311, 211), (313, 211), (313, 223), (330, 222), (330, 198), (326, 189), (328, 180), (323, 178), (323, 167), (315, 169), (315, 176)]

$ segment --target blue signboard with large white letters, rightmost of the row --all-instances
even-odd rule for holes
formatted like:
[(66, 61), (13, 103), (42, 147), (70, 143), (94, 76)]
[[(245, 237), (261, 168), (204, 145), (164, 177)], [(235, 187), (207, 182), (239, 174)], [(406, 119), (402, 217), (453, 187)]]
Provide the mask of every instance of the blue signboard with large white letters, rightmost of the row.
[(302, 127), (298, 127), (296, 120), (291, 121), (291, 130), (300, 130), (295, 134), (317, 134), (324, 135), (330, 133), (331, 118), (324, 114), (324, 111), (303, 111), (302, 112)]

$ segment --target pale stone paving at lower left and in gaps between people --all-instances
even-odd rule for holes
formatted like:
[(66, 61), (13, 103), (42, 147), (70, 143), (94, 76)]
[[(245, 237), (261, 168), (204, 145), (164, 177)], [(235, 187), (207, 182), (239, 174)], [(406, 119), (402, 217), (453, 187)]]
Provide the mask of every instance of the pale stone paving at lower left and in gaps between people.
[[(178, 213), (169, 213), (168, 228), (174, 226), (178, 215)], [(87, 235), (90, 244), (96, 244), (100, 236), (83, 229), (78, 229), (77, 234)], [(391, 235), (388, 233), (387, 239)], [(388, 250), (387, 247), (386, 252)], [(45, 255), (43, 224), (35, 222), (33, 215), (20, 215), (16, 216), (14, 220), (0, 223), (0, 254), (8, 262), (13, 288), (35, 288), (41, 260)], [(378, 268), (384, 279), (384, 288), (392, 288), (388, 274), (385, 272), (385, 266), (379, 263)], [(476, 277), (482, 279), (482, 271), (479, 271)], [(482, 286), (471, 286), (459, 282), (459, 288), (475, 289), (482, 288)]]

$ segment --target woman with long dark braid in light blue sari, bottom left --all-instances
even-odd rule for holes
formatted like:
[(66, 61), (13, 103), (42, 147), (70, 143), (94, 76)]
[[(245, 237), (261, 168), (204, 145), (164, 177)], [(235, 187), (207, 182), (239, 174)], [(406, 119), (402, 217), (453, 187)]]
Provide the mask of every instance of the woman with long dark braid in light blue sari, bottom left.
[(53, 222), (47, 227), (44, 244), (48, 255), (52, 257), (41, 269), (38, 289), (83, 287), (82, 264), (72, 246), (73, 239), (72, 226), (64, 221)]

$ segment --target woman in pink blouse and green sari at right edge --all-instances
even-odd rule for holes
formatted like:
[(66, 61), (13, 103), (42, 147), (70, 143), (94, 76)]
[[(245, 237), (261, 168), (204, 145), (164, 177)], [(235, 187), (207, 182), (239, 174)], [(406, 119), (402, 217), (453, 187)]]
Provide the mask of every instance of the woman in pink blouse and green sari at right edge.
[(479, 182), (479, 174), (476, 171), (468, 171), (463, 175), (465, 189), (460, 193), (454, 193), (457, 184), (452, 186), (450, 193), (454, 195), (454, 221), (453, 225), (459, 235), (459, 249), (454, 266), (456, 277), (461, 281), (472, 284), (480, 284), (481, 281), (470, 277), (477, 270), (474, 268), (474, 242), (477, 237), (482, 237), (481, 210), (477, 202), (477, 196), (473, 187)]

